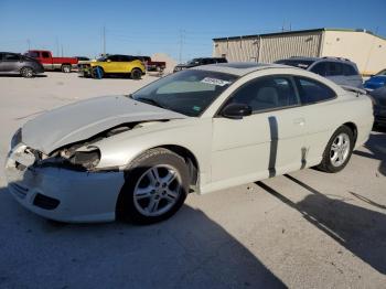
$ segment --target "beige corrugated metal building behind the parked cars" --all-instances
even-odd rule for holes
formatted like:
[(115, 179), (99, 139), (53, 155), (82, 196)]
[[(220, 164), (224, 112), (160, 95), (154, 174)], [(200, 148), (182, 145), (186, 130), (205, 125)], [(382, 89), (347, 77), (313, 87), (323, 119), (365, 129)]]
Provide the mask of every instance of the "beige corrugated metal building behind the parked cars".
[(291, 56), (349, 58), (364, 75), (386, 68), (386, 39), (366, 30), (313, 29), (213, 39), (213, 56), (271, 63)]

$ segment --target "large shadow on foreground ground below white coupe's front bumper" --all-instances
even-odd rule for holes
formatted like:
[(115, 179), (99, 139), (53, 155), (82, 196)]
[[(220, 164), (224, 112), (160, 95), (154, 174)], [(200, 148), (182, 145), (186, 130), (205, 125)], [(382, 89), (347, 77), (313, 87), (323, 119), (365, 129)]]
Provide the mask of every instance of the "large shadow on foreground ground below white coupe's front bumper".
[(184, 205), (163, 223), (49, 222), (0, 189), (0, 288), (285, 288), (243, 244)]

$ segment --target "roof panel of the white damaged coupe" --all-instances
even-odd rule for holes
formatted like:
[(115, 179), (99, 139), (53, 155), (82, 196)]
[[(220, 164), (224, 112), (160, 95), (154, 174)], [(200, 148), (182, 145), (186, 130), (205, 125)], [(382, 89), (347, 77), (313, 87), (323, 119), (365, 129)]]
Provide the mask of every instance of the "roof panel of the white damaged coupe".
[(219, 73), (227, 73), (237, 76), (244, 76), (248, 73), (267, 69), (267, 68), (290, 68), (300, 69), (297, 67), (281, 65), (281, 64), (268, 64), (268, 63), (256, 63), (256, 62), (229, 62), (229, 63), (217, 63), (192, 67), (191, 69), (197, 71), (213, 71)]

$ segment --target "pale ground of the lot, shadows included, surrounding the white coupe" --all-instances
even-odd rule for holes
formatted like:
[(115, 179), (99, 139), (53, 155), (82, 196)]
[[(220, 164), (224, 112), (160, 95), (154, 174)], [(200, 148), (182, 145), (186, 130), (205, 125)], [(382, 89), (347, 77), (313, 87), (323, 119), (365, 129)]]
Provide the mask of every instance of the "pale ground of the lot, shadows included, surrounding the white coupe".
[[(0, 77), (0, 158), (35, 115), (153, 81)], [(386, 135), (337, 174), (308, 169), (199, 196), (162, 224), (65, 225), (22, 208), (0, 169), (0, 288), (385, 288)]]

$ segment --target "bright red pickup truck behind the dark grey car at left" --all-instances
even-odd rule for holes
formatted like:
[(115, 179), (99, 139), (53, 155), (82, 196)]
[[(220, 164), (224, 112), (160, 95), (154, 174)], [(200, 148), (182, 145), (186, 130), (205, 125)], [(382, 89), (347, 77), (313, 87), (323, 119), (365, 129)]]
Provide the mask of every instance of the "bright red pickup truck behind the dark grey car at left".
[(46, 71), (61, 69), (64, 73), (71, 73), (77, 65), (75, 57), (53, 57), (51, 51), (30, 50), (24, 55), (37, 60)]

